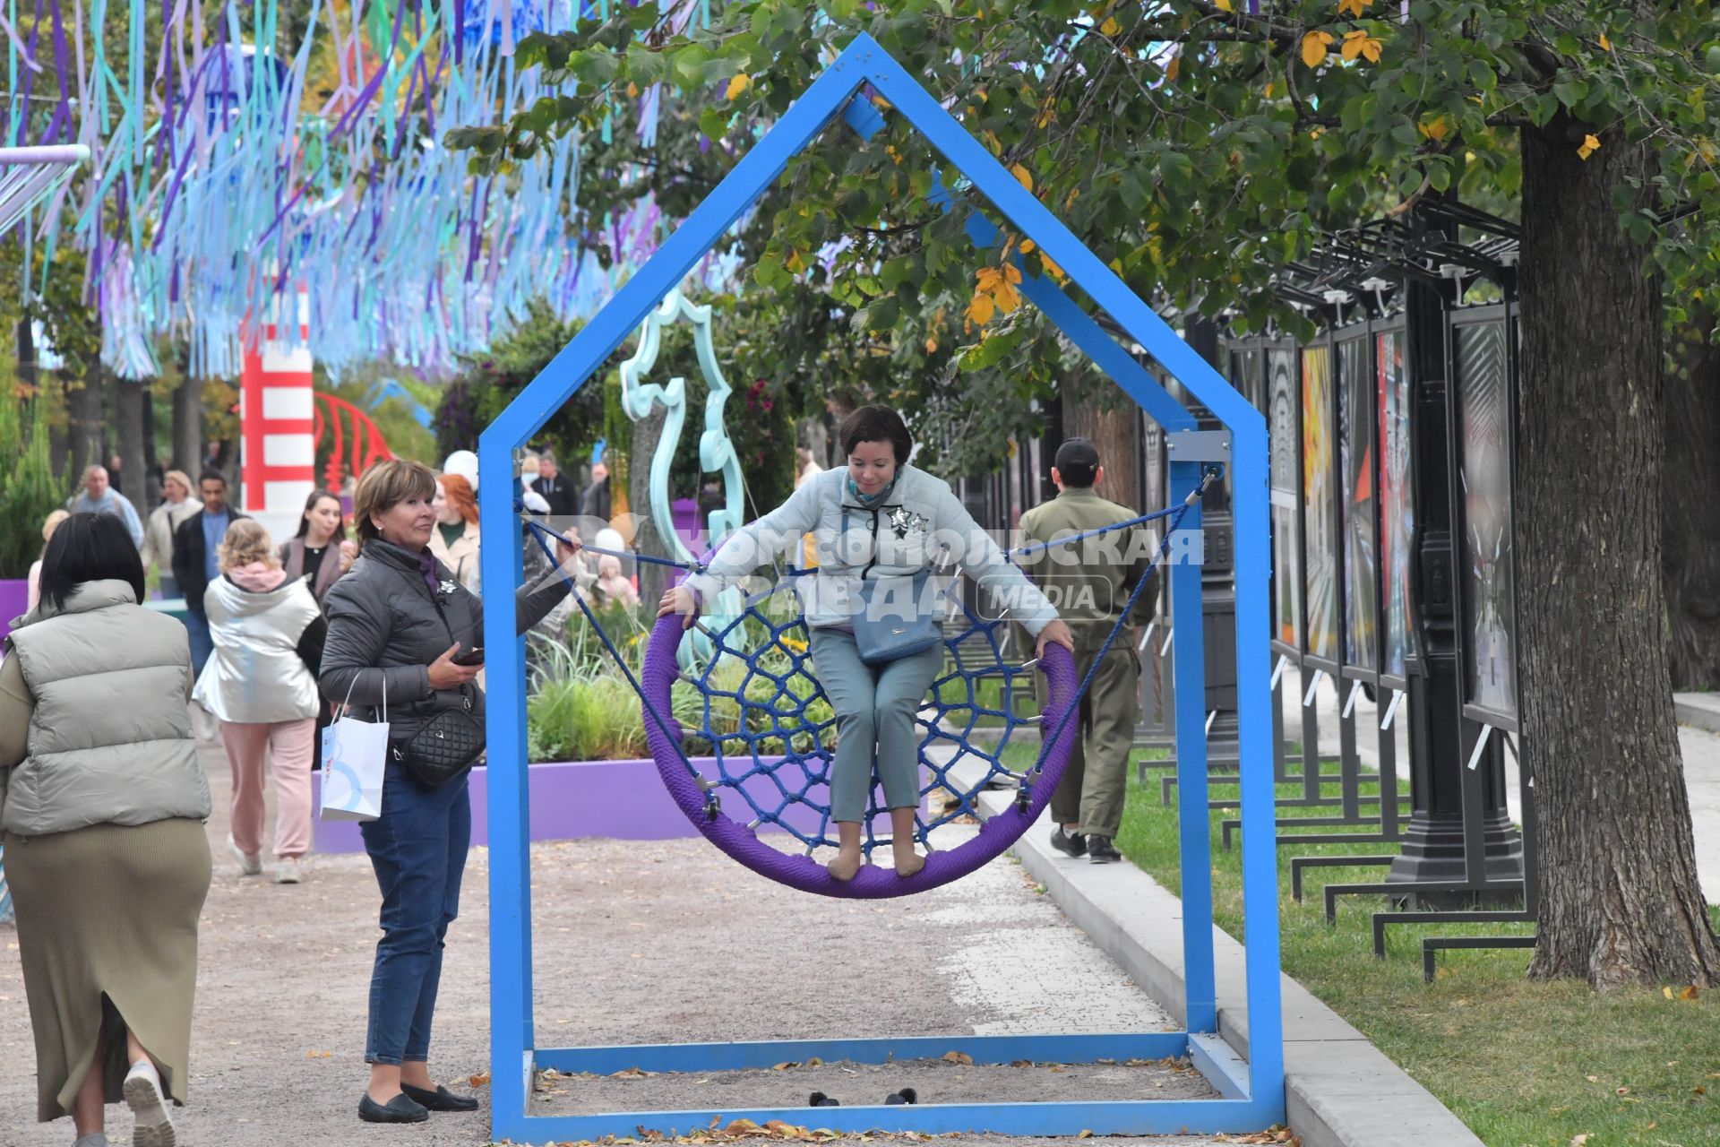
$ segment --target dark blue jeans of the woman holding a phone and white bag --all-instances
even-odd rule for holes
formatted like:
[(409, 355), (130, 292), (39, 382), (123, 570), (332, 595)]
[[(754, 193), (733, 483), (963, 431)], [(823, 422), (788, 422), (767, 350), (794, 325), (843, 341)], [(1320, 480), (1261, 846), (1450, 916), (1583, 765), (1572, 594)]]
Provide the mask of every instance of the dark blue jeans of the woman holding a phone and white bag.
[(471, 844), (466, 777), (427, 789), (390, 760), (382, 815), (361, 824), (359, 832), (382, 886), (365, 1063), (425, 1061), (442, 982), (442, 941), (459, 915), (459, 879)]

